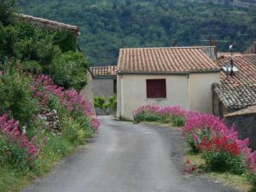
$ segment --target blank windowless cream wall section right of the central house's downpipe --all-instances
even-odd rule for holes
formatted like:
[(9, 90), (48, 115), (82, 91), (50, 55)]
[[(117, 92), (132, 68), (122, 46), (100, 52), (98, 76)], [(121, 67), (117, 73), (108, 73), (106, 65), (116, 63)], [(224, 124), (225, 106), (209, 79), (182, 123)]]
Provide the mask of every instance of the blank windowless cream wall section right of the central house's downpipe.
[(219, 81), (219, 73), (190, 74), (190, 109), (203, 113), (212, 113), (212, 84), (219, 83)]

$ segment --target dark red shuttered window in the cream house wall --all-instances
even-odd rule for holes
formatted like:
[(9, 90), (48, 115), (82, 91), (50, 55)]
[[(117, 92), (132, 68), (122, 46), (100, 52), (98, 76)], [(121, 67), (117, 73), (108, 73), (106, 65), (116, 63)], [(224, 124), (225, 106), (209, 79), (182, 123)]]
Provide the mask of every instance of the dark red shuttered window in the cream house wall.
[(166, 98), (166, 79), (147, 79), (147, 98)]

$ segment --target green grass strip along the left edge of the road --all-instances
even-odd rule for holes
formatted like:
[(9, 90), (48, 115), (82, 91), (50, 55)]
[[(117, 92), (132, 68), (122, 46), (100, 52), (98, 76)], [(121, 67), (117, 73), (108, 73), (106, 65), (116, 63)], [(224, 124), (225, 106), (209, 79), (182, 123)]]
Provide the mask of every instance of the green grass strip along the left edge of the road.
[(34, 170), (18, 170), (13, 166), (0, 165), (0, 192), (20, 191), (37, 177), (51, 171), (63, 157), (72, 154), (76, 148), (79, 146), (74, 146), (65, 137), (51, 137), (44, 148), (44, 154), (35, 162)]

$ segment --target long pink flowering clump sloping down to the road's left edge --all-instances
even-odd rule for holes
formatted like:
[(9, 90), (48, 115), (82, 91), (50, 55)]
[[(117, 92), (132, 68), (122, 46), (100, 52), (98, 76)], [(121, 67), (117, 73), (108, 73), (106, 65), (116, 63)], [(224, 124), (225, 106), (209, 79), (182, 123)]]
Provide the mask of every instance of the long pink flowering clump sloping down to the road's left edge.
[[(31, 85), (33, 95), (46, 108), (52, 108), (63, 112), (79, 123), (84, 130), (91, 135), (98, 131), (99, 120), (96, 118), (90, 102), (84, 100), (82, 95), (76, 90), (64, 90), (54, 84), (53, 79), (47, 75), (40, 75)], [(67, 112), (67, 113), (66, 113)], [(68, 117), (67, 117), (68, 118)]]

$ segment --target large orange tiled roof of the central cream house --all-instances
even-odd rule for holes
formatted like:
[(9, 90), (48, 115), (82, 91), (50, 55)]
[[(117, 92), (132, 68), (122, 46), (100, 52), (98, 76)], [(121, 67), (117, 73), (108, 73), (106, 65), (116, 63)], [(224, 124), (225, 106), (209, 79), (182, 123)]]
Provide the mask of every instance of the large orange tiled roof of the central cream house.
[(218, 66), (200, 47), (119, 50), (118, 73), (217, 72)]

